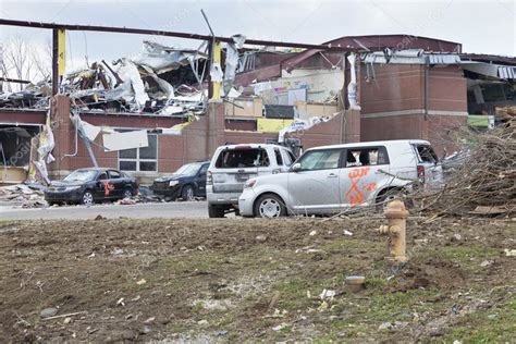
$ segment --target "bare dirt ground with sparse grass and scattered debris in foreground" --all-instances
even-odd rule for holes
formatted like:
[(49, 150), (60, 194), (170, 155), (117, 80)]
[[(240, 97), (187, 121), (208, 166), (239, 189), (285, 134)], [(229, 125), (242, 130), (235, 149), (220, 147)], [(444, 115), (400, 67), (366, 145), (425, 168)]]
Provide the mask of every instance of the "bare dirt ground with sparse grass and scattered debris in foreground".
[(514, 341), (516, 219), (410, 219), (403, 266), (382, 223), (3, 221), (0, 342)]

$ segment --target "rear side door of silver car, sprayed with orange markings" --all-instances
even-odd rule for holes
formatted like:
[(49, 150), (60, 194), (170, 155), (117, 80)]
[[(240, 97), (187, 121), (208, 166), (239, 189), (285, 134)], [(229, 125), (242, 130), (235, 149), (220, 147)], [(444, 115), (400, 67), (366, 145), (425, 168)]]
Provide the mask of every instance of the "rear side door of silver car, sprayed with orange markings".
[(347, 148), (340, 171), (341, 207), (371, 205), (378, 189), (392, 180), (386, 148)]

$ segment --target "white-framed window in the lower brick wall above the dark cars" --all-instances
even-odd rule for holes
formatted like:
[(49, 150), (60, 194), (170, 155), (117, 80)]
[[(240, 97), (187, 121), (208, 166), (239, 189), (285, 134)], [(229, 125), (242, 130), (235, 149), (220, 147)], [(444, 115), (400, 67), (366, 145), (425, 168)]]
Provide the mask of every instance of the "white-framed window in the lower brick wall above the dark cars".
[(158, 135), (147, 135), (149, 145), (142, 148), (119, 150), (119, 170), (121, 171), (157, 171)]

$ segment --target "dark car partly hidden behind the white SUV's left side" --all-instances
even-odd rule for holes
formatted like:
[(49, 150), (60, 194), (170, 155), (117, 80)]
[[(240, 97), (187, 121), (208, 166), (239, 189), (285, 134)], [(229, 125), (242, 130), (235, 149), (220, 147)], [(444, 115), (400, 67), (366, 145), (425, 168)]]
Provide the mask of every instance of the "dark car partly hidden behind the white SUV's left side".
[(206, 197), (206, 172), (209, 161), (192, 162), (182, 165), (172, 175), (161, 176), (153, 181), (152, 192), (165, 200), (194, 200)]

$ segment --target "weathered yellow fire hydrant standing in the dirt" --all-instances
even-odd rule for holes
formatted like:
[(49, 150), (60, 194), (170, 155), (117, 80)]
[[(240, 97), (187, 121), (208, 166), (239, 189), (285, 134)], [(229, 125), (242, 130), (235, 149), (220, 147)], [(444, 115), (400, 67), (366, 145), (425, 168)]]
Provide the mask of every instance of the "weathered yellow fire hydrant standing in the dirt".
[(408, 211), (405, 204), (398, 199), (389, 202), (383, 212), (388, 218), (388, 225), (381, 225), (377, 231), (382, 235), (389, 235), (391, 257), (388, 259), (396, 262), (407, 261), (406, 256), (406, 223)]

